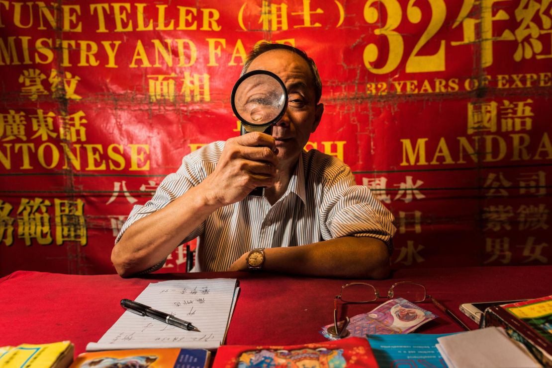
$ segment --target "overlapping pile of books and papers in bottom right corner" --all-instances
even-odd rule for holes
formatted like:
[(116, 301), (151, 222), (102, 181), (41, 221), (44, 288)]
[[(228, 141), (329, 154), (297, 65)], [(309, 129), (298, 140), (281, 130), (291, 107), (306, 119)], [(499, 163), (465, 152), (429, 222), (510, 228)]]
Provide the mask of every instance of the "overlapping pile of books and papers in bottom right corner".
[(493, 306), (481, 328), (452, 334), (368, 335), (379, 366), (552, 366), (552, 295)]

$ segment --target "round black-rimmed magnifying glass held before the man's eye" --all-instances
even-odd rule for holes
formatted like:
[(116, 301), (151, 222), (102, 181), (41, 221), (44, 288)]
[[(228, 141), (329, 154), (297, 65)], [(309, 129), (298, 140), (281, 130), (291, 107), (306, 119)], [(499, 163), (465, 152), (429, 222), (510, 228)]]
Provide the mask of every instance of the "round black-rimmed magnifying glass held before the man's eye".
[[(272, 134), (288, 107), (288, 91), (278, 75), (268, 71), (243, 74), (234, 85), (230, 97), (232, 110), (241, 121), (241, 133)], [(250, 196), (264, 196), (264, 188), (255, 188)]]

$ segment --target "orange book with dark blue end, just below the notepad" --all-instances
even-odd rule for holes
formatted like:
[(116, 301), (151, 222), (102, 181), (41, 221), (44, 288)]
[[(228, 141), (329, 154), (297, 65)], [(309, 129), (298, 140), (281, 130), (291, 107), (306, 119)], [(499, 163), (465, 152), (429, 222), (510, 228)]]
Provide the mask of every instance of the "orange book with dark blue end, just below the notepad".
[(79, 354), (71, 368), (206, 368), (211, 353), (204, 349), (128, 349)]

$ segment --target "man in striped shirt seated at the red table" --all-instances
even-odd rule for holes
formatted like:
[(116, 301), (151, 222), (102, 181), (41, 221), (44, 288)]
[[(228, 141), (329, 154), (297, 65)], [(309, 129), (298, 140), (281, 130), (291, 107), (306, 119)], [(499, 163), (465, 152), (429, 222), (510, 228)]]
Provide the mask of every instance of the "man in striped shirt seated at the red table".
[[(247, 133), (185, 156), (152, 200), (132, 209), (112, 252), (117, 272), (151, 272), (199, 236), (198, 271), (387, 277), (391, 213), (355, 185), (347, 165), (303, 150), (324, 110), (314, 61), (291, 46), (261, 44), (242, 73), (254, 70), (277, 74), (288, 90), (272, 136)], [(265, 197), (248, 196), (255, 187)]]

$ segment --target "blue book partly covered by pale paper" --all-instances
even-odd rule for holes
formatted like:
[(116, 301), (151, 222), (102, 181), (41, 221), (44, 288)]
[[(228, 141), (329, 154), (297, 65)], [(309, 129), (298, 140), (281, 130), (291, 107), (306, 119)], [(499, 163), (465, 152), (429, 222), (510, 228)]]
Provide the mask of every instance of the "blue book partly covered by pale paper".
[(447, 368), (435, 346), (447, 335), (452, 333), (368, 335), (368, 342), (380, 367)]

